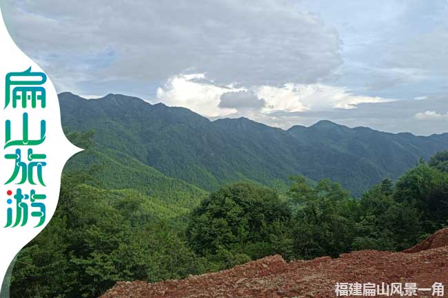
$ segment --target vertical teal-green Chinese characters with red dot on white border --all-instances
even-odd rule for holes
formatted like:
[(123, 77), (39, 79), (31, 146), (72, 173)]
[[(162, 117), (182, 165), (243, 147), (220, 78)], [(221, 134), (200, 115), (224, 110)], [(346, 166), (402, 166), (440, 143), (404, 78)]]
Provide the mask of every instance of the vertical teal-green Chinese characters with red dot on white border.
[(11, 166), (4, 170), (12, 174), (4, 183), (11, 189), (14, 185), (20, 188), (6, 192), (8, 208), (4, 228), (27, 226), (31, 219), (35, 221), (35, 228), (45, 223), (46, 195), (40, 192), (37, 194), (34, 189), (45, 188), (43, 172), (47, 155), (39, 152), (39, 145), (45, 141), (46, 123), (45, 119), (38, 117), (39, 109), (45, 109), (46, 106), (45, 81), (47, 76), (43, 72), (32, 72), (31, 68), (6, 75), (3, 112), (5, 115), (13, 115), (8, 110), (21, 110), (21, 121), (5, 121), (3, 148), (6, 154), (3, 158)]

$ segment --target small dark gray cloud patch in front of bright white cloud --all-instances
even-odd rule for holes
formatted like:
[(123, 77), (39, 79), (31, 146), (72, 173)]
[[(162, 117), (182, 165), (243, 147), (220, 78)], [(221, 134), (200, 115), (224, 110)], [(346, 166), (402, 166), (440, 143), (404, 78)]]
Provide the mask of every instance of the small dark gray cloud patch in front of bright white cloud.
[(258, 98), (252, 91), (225, 92), (219, 101), (220, 108), (236, 110), (259, 110), (265, 106), (265, 99)]

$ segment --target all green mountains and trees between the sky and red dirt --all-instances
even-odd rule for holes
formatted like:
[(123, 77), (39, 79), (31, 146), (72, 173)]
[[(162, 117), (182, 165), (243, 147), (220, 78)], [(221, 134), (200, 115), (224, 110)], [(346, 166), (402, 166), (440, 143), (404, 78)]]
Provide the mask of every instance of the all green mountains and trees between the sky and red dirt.
[[(60, 97), (66, 135), (86, 150), (63, 171), (52, 221), (17, 257), (13, 297), (100, 297), (116, 281), (182, 279), (277, 254), (400, 251), (447, 224), (448, 150), (419, 160), (444, 147), (446, 134), (329, 121), (285, 131), (121, 95)], [(387, 158), (396, 151), (404, 157)], [(392, 175), (386, 162), (411, 168), (358, 199), (339, 183), (300, 175), (315, 170), (356, 186), (375, 171)], [(290, 172), (298, 175), (285, 187)], [(216, 187), (207, 181), (240, 179), (205, 190)]]

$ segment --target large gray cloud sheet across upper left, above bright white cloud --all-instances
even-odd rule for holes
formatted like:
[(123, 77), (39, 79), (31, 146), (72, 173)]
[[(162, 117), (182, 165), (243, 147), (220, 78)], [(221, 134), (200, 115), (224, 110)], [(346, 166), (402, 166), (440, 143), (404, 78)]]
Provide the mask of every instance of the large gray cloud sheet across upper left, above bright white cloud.
[(341, 63), (336, 31), (294, 1), (7, 0), (4, 14), (52, 77), (68, 81), (57, 69), (70, 63), (72, 85), (181, 72), (245, 86), (312, 83)]

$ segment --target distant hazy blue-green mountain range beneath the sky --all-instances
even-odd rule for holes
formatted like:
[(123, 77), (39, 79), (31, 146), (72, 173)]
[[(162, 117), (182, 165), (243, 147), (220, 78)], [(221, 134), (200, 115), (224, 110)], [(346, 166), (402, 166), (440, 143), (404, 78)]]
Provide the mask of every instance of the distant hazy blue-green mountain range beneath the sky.
[[(94, 129), (105, 155), (118, 163), (133, 159), (184, 183), (183, 189), (213, 190), (243, 179), (281, 186), (290, 175), (305, 175), (330, 178), (360, 195), (382, 179), (400, 176), (420, 158), (448, 149), (447, 133), (395, 135), (330, 121), (281, 130), (245, 118), (210, 121), (186, 108), (124, 95), (86, 100), (65, 92), (59, 101), (63, 126)], [(110, 175), (118, 182), (123, 177)]]

